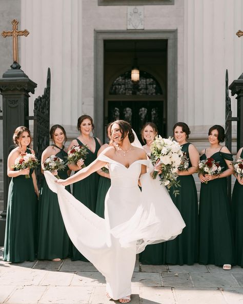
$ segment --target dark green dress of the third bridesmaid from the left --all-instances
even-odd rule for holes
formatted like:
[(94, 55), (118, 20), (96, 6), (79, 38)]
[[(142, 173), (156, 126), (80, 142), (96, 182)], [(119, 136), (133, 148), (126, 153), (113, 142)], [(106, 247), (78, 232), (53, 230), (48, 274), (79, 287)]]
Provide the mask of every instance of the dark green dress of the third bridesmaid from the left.
[[(78, 138), (76, 138), (79, 145), (83, 145), (82, 142)], [(85, 159), (85, 165), (88, 166), (97, 158), (97, 152), (100, 148), (100, 144), (97, 139), (94, 137), (95, 140), (95, 151), (94, 153), (87, 148), (88, 154), (87, 158)], [(90, 176), (86, 177), (83, 180), (80, 180), (73, 184), (73, 196), (86, 205), (91, 211), (95, 213), (96, 209), (96, 200), (97, 200), (97, 192), (98, 192), (98, 183), (99, 183), (99, 175), (95, 172), (92, 173)], [(71, 260), (77, 261), (88, 261), (72, 244), (71, 248)]]

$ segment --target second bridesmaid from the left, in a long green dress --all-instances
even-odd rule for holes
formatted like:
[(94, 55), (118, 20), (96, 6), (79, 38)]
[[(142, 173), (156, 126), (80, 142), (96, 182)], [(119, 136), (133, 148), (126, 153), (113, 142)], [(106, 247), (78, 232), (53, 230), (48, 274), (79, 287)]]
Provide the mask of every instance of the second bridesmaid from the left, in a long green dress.
[[(50, 137), (54, 144), (48, 146), (42, 154), (42, 166), (44, 161), (51, 155), (67, 160), (67, 152), (64, 144), (67, 141), (66, 131), (60, 125), (54, 125), (50, 129)], [(55, 170), (53, 175), (58, 174), (59, 178), (66, 179), (70, 175), (70, 170)], [(70, 186), (66, 189), (70, 192)], [(38, 212), (38, 259), (60, 261), (69, 254), (69, 237), (66, 232), (63, 217), (60, 213), (56, 193), (52, 192), (43, 179), (42, 190), (39, 199)]]

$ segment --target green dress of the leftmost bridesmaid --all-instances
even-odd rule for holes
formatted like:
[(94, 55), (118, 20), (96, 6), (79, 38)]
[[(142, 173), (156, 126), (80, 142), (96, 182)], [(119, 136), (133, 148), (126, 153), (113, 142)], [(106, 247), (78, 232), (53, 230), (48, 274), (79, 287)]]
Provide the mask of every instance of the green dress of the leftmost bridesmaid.
[[(27, 148), (26, 153), (31, 154)], [(32, 179), (13, 177), (8, 190), (8, 207), (4, 242), (4, 261), (34, 261), (37, 234), (37, 196)]]

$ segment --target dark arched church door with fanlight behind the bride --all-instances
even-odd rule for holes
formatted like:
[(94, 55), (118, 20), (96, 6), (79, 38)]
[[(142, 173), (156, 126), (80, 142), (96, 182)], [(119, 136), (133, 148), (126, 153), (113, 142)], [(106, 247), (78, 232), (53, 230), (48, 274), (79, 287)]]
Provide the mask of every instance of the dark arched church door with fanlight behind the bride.
[(166, 99), (156, 78), (140, 70), (138, 83), (132, 83), (131, 70), (120, 74), (111, 84), (107, 96), (108, 122), (129, 122), (140, 139), (141, 127), (154, 122), (161, 135), (166, 133)]

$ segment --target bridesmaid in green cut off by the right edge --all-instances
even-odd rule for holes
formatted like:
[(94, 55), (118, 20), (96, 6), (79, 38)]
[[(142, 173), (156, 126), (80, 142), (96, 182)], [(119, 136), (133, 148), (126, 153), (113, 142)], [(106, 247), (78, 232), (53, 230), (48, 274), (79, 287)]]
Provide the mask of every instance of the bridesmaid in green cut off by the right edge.
[[(243, 148), (240, 148), (236, 160), (243, 158)], [(235, 239), (235, 255), (236, 264), (243, 268), (243, 178), (234, 174), (237, 180), (235, 181), (232, 194), (232, 216), (233, 216), (233, 232)]]

